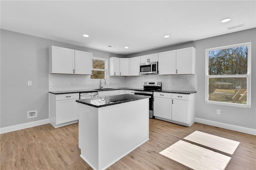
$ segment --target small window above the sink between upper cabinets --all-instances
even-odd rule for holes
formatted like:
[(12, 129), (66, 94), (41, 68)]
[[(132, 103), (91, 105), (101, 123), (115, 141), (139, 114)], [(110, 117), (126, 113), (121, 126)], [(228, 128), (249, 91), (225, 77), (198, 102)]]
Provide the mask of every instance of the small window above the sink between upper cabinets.
[(106, 79), (106, 59), (92, 57), (91, 79)]

